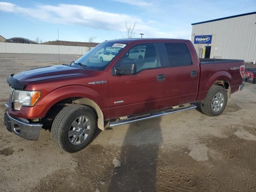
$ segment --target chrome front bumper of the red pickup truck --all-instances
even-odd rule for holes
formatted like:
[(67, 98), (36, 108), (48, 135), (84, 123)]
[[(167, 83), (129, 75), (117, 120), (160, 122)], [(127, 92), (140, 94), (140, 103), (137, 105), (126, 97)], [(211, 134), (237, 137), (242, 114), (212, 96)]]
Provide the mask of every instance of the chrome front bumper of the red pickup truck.
[(27, 123), (12, 118), (7, 111), (4, 114), (4, 124), (8, 131), (29, 140), (38, 140), (40, 130), (43, 126), (43, 124)]

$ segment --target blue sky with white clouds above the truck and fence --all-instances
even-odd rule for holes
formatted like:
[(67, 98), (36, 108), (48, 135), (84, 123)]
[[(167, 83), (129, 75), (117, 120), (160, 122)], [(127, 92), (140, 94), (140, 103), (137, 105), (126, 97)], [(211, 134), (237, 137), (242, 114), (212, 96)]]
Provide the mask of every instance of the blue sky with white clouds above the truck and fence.
[(43, 42), (94, 42), (122, 38), (191, 39), (191, 23), (256, 11), (256, 0), (6, 0), (0, 1), (0, 35)]

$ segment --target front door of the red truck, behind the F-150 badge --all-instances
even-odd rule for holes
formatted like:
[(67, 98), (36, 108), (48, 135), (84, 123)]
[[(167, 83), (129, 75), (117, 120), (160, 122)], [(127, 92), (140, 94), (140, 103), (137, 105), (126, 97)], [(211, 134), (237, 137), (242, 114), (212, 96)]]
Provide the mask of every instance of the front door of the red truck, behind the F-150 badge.
[[(145, 50), (144, 58), (129, 58), (130, 51)], [(135, 62), (136, 74), (116, 75), (114, 68), (109, 71), (109, 96), (111, 118), (138, 114), (164, 107), (166, 70), (159, 60), (155, 44), (138, 45), (130, 49), (115, 65)], [(114, 67), (115, 67), (114, 66)]]

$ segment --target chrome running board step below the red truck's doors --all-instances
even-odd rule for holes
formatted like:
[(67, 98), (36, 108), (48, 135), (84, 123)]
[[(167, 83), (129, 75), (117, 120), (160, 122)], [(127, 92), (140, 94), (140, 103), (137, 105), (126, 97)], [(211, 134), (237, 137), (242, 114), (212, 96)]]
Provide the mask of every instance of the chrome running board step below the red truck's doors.
[(168, 109), (168, 110), (164, 110), (164, 111), (153, 113), (153, 114), (146, 114), (146, 115), (141, 115), (141, 116), (136, 116), (136, 117), (130, 117), (130, 118), (126, 118), (126, 119), (117, 120), (114, 122), (110, 121), (109, 127), (129, 124), (129, 123), (133, 123), (133, 122), (137, 122), (137, 121), (141, 121), (141, 120), (151, 119), (151, 118), (168, 115), (168, 114), (172, 114), (172, 113), (176, 113), (176, 112), (180, 112), (180, 111), (195, 109), (195, 108), (196, 108), (195, 105), (182, 106), (179, 108)]

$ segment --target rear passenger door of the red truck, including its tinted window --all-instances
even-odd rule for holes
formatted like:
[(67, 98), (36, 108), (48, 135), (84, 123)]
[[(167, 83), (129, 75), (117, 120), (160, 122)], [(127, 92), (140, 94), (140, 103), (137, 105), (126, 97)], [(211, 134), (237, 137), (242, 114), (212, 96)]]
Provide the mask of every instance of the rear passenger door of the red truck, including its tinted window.
[(166, 64), (166, 104), (194, 102), (198, 94), (199, 66), (189, 42), (164, 43)]

